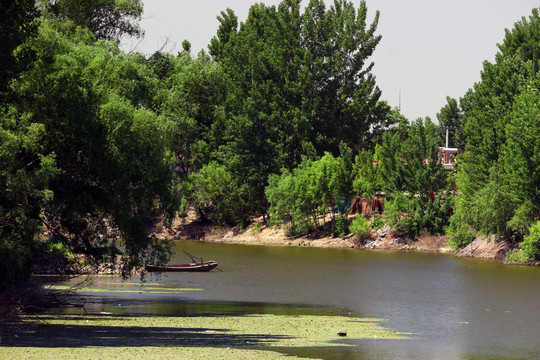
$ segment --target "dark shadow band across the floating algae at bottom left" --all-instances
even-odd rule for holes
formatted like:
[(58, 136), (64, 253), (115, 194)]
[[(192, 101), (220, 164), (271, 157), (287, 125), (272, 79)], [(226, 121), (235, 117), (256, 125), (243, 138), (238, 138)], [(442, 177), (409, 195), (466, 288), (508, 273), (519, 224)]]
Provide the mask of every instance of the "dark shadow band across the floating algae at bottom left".
[[(250, 346), (261, 342), (269, 343), (285, 336), (231, 334), (224, 329), (210, 328), (181, 328), (181, 327), (142, 327), (142, 326), (113, 326), (117, 316), (110, 316), (105, 321), (107, 325), (68, 325), (48, 324), (43, 320), (62, 320), (63, 316), (28, 318), (29, 321), (4, 323), (1, 325), (1, 345), (8, 347), (214, 347), (214, 346)], [(68, 320), (77, 320), (72, 316)], [(78, 320), (92, 322), (91, 316)], [(96, 318), (97, 320), (97, 318)], [(99, 321), (103, 322), (100, 316)]]

